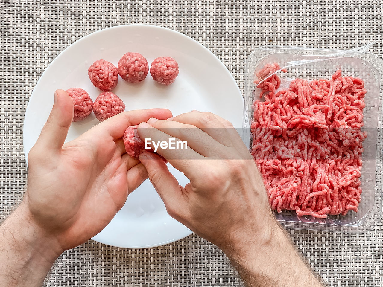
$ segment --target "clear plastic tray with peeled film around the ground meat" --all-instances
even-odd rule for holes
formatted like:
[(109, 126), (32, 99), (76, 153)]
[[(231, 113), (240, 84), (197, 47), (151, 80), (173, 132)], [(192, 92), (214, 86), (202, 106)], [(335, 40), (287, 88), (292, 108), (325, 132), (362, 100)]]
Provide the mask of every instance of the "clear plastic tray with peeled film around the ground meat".
[(362, 233), (375, 227), (381, 215), (382, 194), (382, 89), (380, 57), (368, 52), (368, 46), (352, 50), (311, 49), (304, 47), (261, 46), (247, 60), (245, 107), (242, 139), (251, 148), (249, 126), (252, 121), (254, 97), (259, 90), (253, 83), (255, 71), (267, 63), (277, 62), (287, 66), (287, 73), (279, 73), (283, 78), (325, 78), (329, 79), (339, 68), (343, 75), (360, 77), (365, 81), (367, 93), (363, 112), (364, 128), (368, 132), (363, 142), (362, 154), (362, 194), (359, 211), (347, 215), (331, 215), (326, 219), (312, 216), (298, 217), (293, 211), (275, 213), (277, 220), (286, 228), (326, 230), (332, 232)]

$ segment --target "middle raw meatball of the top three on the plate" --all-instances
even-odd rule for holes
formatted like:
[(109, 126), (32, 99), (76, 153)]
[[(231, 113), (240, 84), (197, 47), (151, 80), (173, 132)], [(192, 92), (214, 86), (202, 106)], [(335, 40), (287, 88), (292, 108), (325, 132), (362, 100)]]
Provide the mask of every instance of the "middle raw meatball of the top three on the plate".
[(129, 83), (139, 83), (149, 72), (147, 60), (140, 53), (126, 53), (118, 61), (118, 73)]

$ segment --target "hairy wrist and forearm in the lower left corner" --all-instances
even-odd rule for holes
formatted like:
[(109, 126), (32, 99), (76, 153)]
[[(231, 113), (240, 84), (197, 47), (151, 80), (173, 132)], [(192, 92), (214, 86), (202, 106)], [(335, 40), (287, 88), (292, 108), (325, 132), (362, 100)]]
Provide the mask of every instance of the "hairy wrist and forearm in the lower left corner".
[(21, 204), (0, 225), (0, 282), (4, 287), (40, 287), (61, 248), (35, 225)]

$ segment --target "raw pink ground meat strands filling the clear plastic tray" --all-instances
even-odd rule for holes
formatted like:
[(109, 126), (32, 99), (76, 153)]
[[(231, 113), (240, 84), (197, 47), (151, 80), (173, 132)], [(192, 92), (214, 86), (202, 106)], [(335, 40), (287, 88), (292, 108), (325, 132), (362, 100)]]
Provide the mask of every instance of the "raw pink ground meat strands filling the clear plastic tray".
[[(254, 102), (252, 155), (262, 173), (272, 209), (326, 218), (358, 211), (366, 89), (360, 78), (296, 78), (278, 91), (267, 76), (278, 64), (256, 73), (260, 97)], [(265, 80), (266, 79), (266, 80)]]

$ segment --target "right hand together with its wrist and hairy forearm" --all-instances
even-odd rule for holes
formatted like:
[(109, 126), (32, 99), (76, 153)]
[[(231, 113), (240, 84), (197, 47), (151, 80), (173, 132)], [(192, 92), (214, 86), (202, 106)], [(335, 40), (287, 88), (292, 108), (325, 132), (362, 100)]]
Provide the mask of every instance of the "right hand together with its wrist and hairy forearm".
[(322, 286), (273, 217), (255, 161), (228, 121), (194, 111), (149, 119), (138, 133), (187, 141), (187, 149), (157, 151), (190, 179), (185, 187), (158, 155), (140, 160), (169, 215), (220, 247), (247, 286)]

